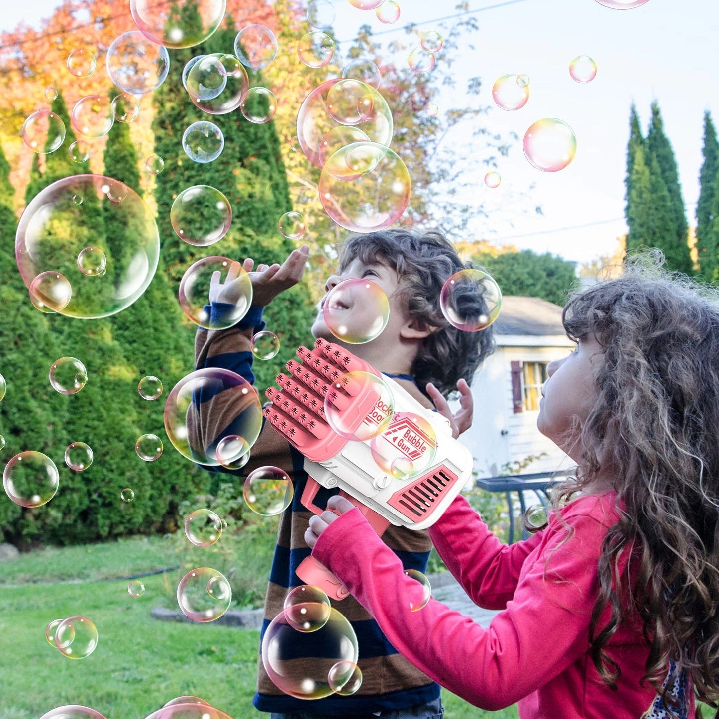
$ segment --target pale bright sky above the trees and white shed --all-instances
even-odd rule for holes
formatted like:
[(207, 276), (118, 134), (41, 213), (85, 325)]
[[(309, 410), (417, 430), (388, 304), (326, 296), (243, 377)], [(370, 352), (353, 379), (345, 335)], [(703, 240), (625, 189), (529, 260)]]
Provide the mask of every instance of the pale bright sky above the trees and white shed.
[[(437, 100), (440, 116), (452, 106), (490, 106), (481, 122), (491, 132), (516, 132), (520, 139), (536, 120), (552, 117), (572, 127), (577, 155), (556, 173), (533, 168), (521, 142), (500, 158), (502, 182), (490, 189), (483, 183), (487, 168), (482, 154), (472, 160), (476, 173), (462, 196), (482, 203), (489, 217), (477, 216), (468, 239), (487, 239), (520, 249), (551, 252), (567, 260), (587, 262), (609, 255), (625, 234), (624, 176), (628, 118), (636, 103), (646, 131), (651, 102), (656, 99), (664, 129), (679, 165), (687, 219), (695, 224), (702, 162), (702, 118), (710, 111), (719, 122), (719, 9), (715, 0), (649, 0), (629, 10), (609, 9), (596, 0), (470, 0), (478, 31), (474, 50), (459, 48), (453, 72), (457, 88)], [(439, 19), (454, 14), (454, 4), (436, 0), (398, 0), (402, 10), (393, 25), (377, 20), (375, 12), (334, 0), (334, 31), (350, 40), (360, 24), (388, 42), (403, 40), (408, 22), (441, 31)], [(0, 29), (19, 22), (33, 26), (50, 17), (58, 0), (33, 0), (4, 7)], [(449, 21), (452, 22), (452, 21)], [(388, 32), (389, 31), (389, 32)], [(378, 38), (380, 39), (380, 38)], [(569, 63), (589, 55), (597, 64), (596, 78), (587, 84), (569, 76)], [(438, 55), (441, 62), (441, 53)], [(530, 78), (530, 97), (517, 111), (493, 104), (494, 81), (506, 73)], [(467, 78), (482, 77), (478, 98), (464, 94)], [(381, 89), (381, 88), (380, 88)], [(459, 127), (445, 142), (463, 147), (471, 128)], [(530, 189), (531, 188), (531, 189)], [(541, 207), (541, 214), (534, 211)]]

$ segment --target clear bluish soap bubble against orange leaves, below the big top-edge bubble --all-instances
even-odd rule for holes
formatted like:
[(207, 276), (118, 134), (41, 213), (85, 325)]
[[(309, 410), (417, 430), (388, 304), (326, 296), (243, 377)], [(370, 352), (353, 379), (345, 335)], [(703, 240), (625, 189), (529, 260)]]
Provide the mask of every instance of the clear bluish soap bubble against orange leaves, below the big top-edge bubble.
[(139, 30), (125, 32), (112, 42), (106, 58), (107, 74), (116, 86), (132, 95), (157, 90), (170, 70), (170, 55), (162, 45)]

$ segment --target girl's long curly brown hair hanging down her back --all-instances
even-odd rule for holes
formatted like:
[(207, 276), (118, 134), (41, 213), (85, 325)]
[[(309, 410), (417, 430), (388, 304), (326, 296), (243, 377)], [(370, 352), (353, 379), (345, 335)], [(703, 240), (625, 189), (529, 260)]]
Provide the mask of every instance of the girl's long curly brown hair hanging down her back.
[[(697, 698), (716, 707), (719, 293), (662, 270), (663, 261), (658, 251), (634, 255), (619, 278), (569, 296), (567, 336), (594, 333), (604, 362), (598, 398), (577, 428), (577, 477), (552, 495), (557, 509), (600, 471), (611, 467), (615, 477), (620, 520), (603, 541), (590, 623), (590, 657), (605, 683), (615, 686), (620, 668), (603, 647), (638, 612), (649, 643), (642, 681), (672, 707), (661, 686), (672, 659), (689, 674)], [(624, 557), (632, 559), (631, 580), (618, 574)], [(621, 600), (623, 582), (629, 606)], [(607, 606), (610, 619), (598, 628)]]

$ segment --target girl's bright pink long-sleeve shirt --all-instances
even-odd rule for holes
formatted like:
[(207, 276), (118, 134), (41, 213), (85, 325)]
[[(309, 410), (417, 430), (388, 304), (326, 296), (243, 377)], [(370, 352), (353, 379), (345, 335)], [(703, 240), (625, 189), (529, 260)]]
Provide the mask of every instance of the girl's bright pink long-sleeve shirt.
[[(372, 613), (395, 649), (468, 702), (488, 710), (519, 702), (522, 719), (638, 719), (656, 695), (649, 682), (640, 684), (649, 654), (641, 619), (620, 626), (605, 645), (621, 669), (616, 691), (601, 681), (588, 652), (597, 561), (618, 521), (615, 498), (577, 498), (559, 512), (564, 525), (551, 513), (543, 531), (509, 546), (464, 497), (454, 500), (431, 539), (472, 601), (503, 609), (488, 628), (434, 599), (412, 611), (418, 582), (357, 508), (329, 525), (313, 555)], [(572, 536), (560, 544), (567, 526)], [(605, 609), (596, 633), (608, 618)]]

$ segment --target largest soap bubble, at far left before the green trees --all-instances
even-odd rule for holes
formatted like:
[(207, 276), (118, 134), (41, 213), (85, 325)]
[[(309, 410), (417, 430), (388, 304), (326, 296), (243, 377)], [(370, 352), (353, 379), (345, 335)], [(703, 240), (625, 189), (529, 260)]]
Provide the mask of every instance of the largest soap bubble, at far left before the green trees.
[[(81, 204), (73, 201), (77, 195)], [(78, 255), (86, 247), (104, 252), (104, 275), (81, 272)], [(70, 300), (52, 309), (96, 319), (124, 310), (145, 292), (157, 269), (160, 236), (152, 210), (132, 188), (105, 175), (70, 175), (29, 203), (17, 228), (15, 257), (28, 288), (42, 273), (66, 278)]]

